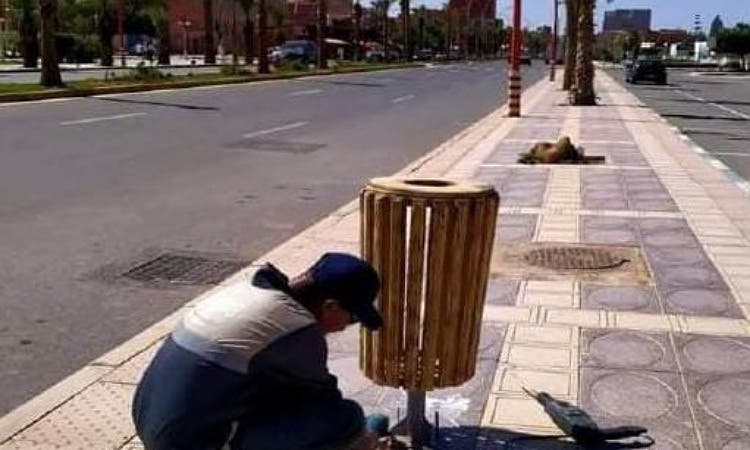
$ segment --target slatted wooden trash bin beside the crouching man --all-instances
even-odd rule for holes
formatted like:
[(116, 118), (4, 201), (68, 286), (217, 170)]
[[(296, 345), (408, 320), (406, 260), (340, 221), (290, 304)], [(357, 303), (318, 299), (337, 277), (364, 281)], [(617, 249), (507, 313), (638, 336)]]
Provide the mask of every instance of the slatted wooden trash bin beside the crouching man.
[(362, 256), (378, 271), (384, 326), (362, 328), (360, 368), (409, 391), (476, 369), (499, 197), (489, 185), (375, 178), (362, 189)]

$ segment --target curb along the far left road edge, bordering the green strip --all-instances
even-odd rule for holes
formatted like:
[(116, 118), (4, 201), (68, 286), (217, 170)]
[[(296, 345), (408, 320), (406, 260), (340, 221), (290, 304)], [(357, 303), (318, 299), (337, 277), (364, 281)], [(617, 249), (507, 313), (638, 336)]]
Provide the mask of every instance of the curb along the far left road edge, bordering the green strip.
[(72, 98), (72, 97), (91, 97), (94, 95), (104, 94), (125, 94), (129, 92), (145, 92), (145, 91), (159, 91), (165, 89), (187, 89), (201, 86), (226, 86), (231, 84), (250, 84), (258, 83), (262, 81), (280, 81), (280, 80), (291, 80), (296, 78), (307, 78), (316, 76), (329, 76), (329, 75), (340, 75), (348, 73), (363, 73), (363, 72), (380, 72), (386, 70), (403, 70), (410, 68), (424, 68), (425, 65), (422, 63), (407, 63), (407, 64), (393, 64), (388, 66), (374, 66), (374, 67), (354, 67), (354, 68), (343, 68), (339, 70), (325, 70), (325, 71), (313, 71), (313, 72), (300, 72), (300, 73), (282, 73), (282, 74), (270, 74), (270, 75), (254, 75), (250, 77), (233, 77), (227, 76), (225, 78), (217, 78), (213, 80), (185, 80), (175, 82), (164, 82), (164, 83), (133, 83), (118, 86), (102, 86), (95, 88), (86, 89), (75, 89), (75, 88), (58, 88), (47, 91), (35, 91), (26, 93), (11, 93), (11, 94), (0, 94), (0, 104), (11, 103), (11, 102), (28, 102), (35, 100), (47, 100), (56, 98)]

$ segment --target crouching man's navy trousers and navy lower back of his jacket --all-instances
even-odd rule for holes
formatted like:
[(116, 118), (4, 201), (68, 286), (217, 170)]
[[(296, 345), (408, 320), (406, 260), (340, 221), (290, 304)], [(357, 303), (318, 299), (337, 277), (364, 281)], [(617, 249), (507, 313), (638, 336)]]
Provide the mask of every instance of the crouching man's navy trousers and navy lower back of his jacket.
[[(138, 385), (133, 421), (148, 450), (337, 448), (364, 426), (344, 399), (259, 401), (263, 386), (206, 361), (168, 338)], [(234, 432), (232, 432), (234, 429)]]

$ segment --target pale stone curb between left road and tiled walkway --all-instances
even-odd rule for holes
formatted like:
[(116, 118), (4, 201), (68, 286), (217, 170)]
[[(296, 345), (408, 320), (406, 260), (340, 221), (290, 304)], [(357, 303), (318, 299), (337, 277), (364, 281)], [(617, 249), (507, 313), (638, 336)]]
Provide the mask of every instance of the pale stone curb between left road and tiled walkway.
[[(546, 77), (542, 77), (533, 85), (528, 86), (524, 90), (524, 92), (530, 92), (534, 88), (538, 89), (538, 87), (540, 85), (544, 85), (544, 83), (547, 83)], [(536, 94), (536, 96), (538, 97), (539, 94)], [(477, 146), (477, 144), (475, 144), (473, 146), (467, 146), (467, 148), (456, 148), (457, 146), (455, 144), (458, 141), (466, 138), (467, 136), (470, 136), (473, 133), (477, 133), (487, 125), (488, 121), (497, 118), (498, 115), (505, 117), (506, 114), (507, 102), (501, 107), (489, 112), (474, 123), (468, 125), (466, 128), (460, 130), (448, 140), (440, 144), (438, 147), (430, 150), (425, 155), (422, 155), (416, 160), (410, 162), (398, 172), (396, 172), (396, 174), (409, 176), (410, 174), (422, 170), (431, 163), (435, 163), (435, 160), (440, 157), (446, 157), (446, 159), (448, 159), (449, 161), (447, 163), (440, 161), (439, 167), (433, 170), (437, 172), (446, 172), (451, 167), (453, 167), (457, 161), (461, 160), (461, 158), (463, 158), (470, 151), (474, 150)], [(508, 120), (516, 121), (518, 119), (512, 118)], [(487, 131), (482, 136), (482, 139), (486, 138), (486, 136), (492, 134), (494, 131), (495, 130)], [(149, 325), (139, 334), (133, 336), (119, 346), (89, 362), (57, 384), (41, 392), (40, 394), (37, 394), (35, 397), (21, 404), (16, 409), (10, 411), (5, 416), (0, 417), (0, 445), (10, 440), (18, 433), (22, 432), (24, 429), (43, 419), (57, 407), (75, 397), (77, 394), (79, 394), (92, 384), (96, 383), (102, 377), (106, 376), (108, 373), (112, 372), (123, 363), (133, 359), (137, 355), (141, 354), (144, 350), (157, 343), (173, 329), (174, 325), (181, 319), (182, 315), (187, 309), (192, 308), (193, 305), (195, 305), (203, 298), (212, 295), (216, 290), (224, 288), (228, 283), (232, 283), (236, 279), (236, 277), (243, 276), (244, 271), (247, 268), (257, 265), (259, 261), (278, 258), (279, 254), (283, 253), (285, 247), (288, 247), (290, 243), (292, 243), (292, 241), (303, 239), (304, 236), (311, 230), (320, 227), (321, 224), (325, 225), (326, 221), (338, 221), (342, 217), (356, 212), (358, 207), (359, 200), (357, 198), (338, 207), (326, 217), (320, 219), (319, 221), (310, 225), (308, 228), (302, 230), (300, 233), (292, 236), (288, 240), (280, 243), (273, 249), (266, 252), (264, 255), (258, 257), (248, 266), (230, 276), (220, 284), (188, 300), (182, 307), (178, 308), (176, 311), (172, 312), (165, 318), (152, 325)], [(273, 258), (271, 258), (272, 255), (274, 255)]]

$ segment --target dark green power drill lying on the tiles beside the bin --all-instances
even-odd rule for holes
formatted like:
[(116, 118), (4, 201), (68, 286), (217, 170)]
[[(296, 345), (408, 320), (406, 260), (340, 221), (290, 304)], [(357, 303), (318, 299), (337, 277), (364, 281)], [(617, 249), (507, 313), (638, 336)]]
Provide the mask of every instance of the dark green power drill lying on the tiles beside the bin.
[(638, 437), (647, 442), (638, 445), (639, 448), (649, 447), (654, 441), (646, 436), (648, 430), (643, 427), (626, 426), (616, 428), (599, 428), (594, 419), (586, 411), (568, 402), (557, 400), (546, 392), (535, 392), (523, 388), (524, 392), (536, 399), (547, 415), (566, 436), (573, 438), (576, 443), (584, 447), (601, 445), (606, 441)]

